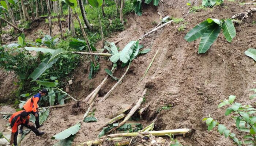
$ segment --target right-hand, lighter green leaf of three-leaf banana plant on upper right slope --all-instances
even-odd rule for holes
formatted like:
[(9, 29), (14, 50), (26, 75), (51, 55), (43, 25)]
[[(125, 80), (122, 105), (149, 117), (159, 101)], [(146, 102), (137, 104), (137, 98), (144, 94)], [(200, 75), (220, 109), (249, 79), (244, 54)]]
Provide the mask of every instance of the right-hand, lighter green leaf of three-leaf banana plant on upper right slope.
[(232, 39), (236, 36), (236, 28), (230, 19), (227, 19), (224, 24), (222, 24), (223, 34), (227, 41), (232, 42)]

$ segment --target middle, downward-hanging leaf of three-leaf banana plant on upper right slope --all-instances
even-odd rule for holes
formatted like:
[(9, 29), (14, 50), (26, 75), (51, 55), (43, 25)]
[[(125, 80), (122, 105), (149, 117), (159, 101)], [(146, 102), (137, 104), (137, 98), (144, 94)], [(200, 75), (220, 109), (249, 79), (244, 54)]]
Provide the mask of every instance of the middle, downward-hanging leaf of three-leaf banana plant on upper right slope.
[(206, 53), (206, 51), (211, 47), (212, 43), (214, 43), (214, 41), (218, 38), (219, 32), (221, 32), (221, 26), (218, 24), (209, 27), (206, 32), (204, 32), (199, 43), (198, 53)]

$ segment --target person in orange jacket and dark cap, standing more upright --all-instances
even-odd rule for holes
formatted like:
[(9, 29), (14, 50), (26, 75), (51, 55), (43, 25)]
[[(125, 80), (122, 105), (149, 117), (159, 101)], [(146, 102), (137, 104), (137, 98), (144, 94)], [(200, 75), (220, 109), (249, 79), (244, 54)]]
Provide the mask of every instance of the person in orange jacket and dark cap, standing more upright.
[[(40, 100), (40, 98), (42, 96), (45, 96), (47, 93), (48, 93), (48, 91), (46, 89), (42, 89), (36, 95), (31, 97), (29, 100), (27, 100), (27, 102), (23, 105), (23, 110), (25, 110), (35, 116), (35, 126), (37, 127), (37, 129), (42, 126), (39, 123), (39, 114), (38, 114), (39, 111), (38, 111), (37, 103)], [(20, 126), (19, 133), (23, 132), (22, 129), (23, 129), (23, 126)]]

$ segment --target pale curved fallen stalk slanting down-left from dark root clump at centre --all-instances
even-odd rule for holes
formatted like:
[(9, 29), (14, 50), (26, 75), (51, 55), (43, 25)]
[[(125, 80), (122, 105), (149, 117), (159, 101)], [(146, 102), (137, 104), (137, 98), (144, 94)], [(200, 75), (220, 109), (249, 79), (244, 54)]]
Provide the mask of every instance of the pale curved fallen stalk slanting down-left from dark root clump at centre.
[(109, 130), (108, 133), (116, 130), (117, 128), (119, 128), (120, 126), (122, 126), (123, 124), (125, 124), (130, 118), (131, 116), (138, 110), (138, 108), (140, 107), (142, 101), (143, 101), (143, 95), (146, 93), (147, 89), (144, 89), (143, 93), (142, 93), (142, 97), (140, 97), (140, 99), (138, 100), (138, 102), (134, 105), (134, 107), (131, 109), (131, 111), (129, 112), (129, 114), (124, 118), (123, 122), (119, 123), (117, 127), (114, 127), (113, 129)]

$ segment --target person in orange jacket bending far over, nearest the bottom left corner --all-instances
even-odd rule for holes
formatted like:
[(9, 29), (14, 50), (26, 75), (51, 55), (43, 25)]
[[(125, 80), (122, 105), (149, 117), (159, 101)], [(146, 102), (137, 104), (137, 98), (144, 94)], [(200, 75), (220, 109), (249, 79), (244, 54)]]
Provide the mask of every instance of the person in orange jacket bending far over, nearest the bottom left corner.
[(18, 137), (18, 126), (25, 126), (32, 130), (35, 135), (43, 135), (44, 132), (39, 132), (37, 128), (33, 125), (33, 123), (29, 122), (29, 112), (27, 111), (18, 111), (15, 112), (11, 118), (9, 119), (11, 128), (12, 128), (12, 134), (11, 134), (11, 140), (10, 140), (10, 145), (14, 144), (17, 146), (17, 137)]

